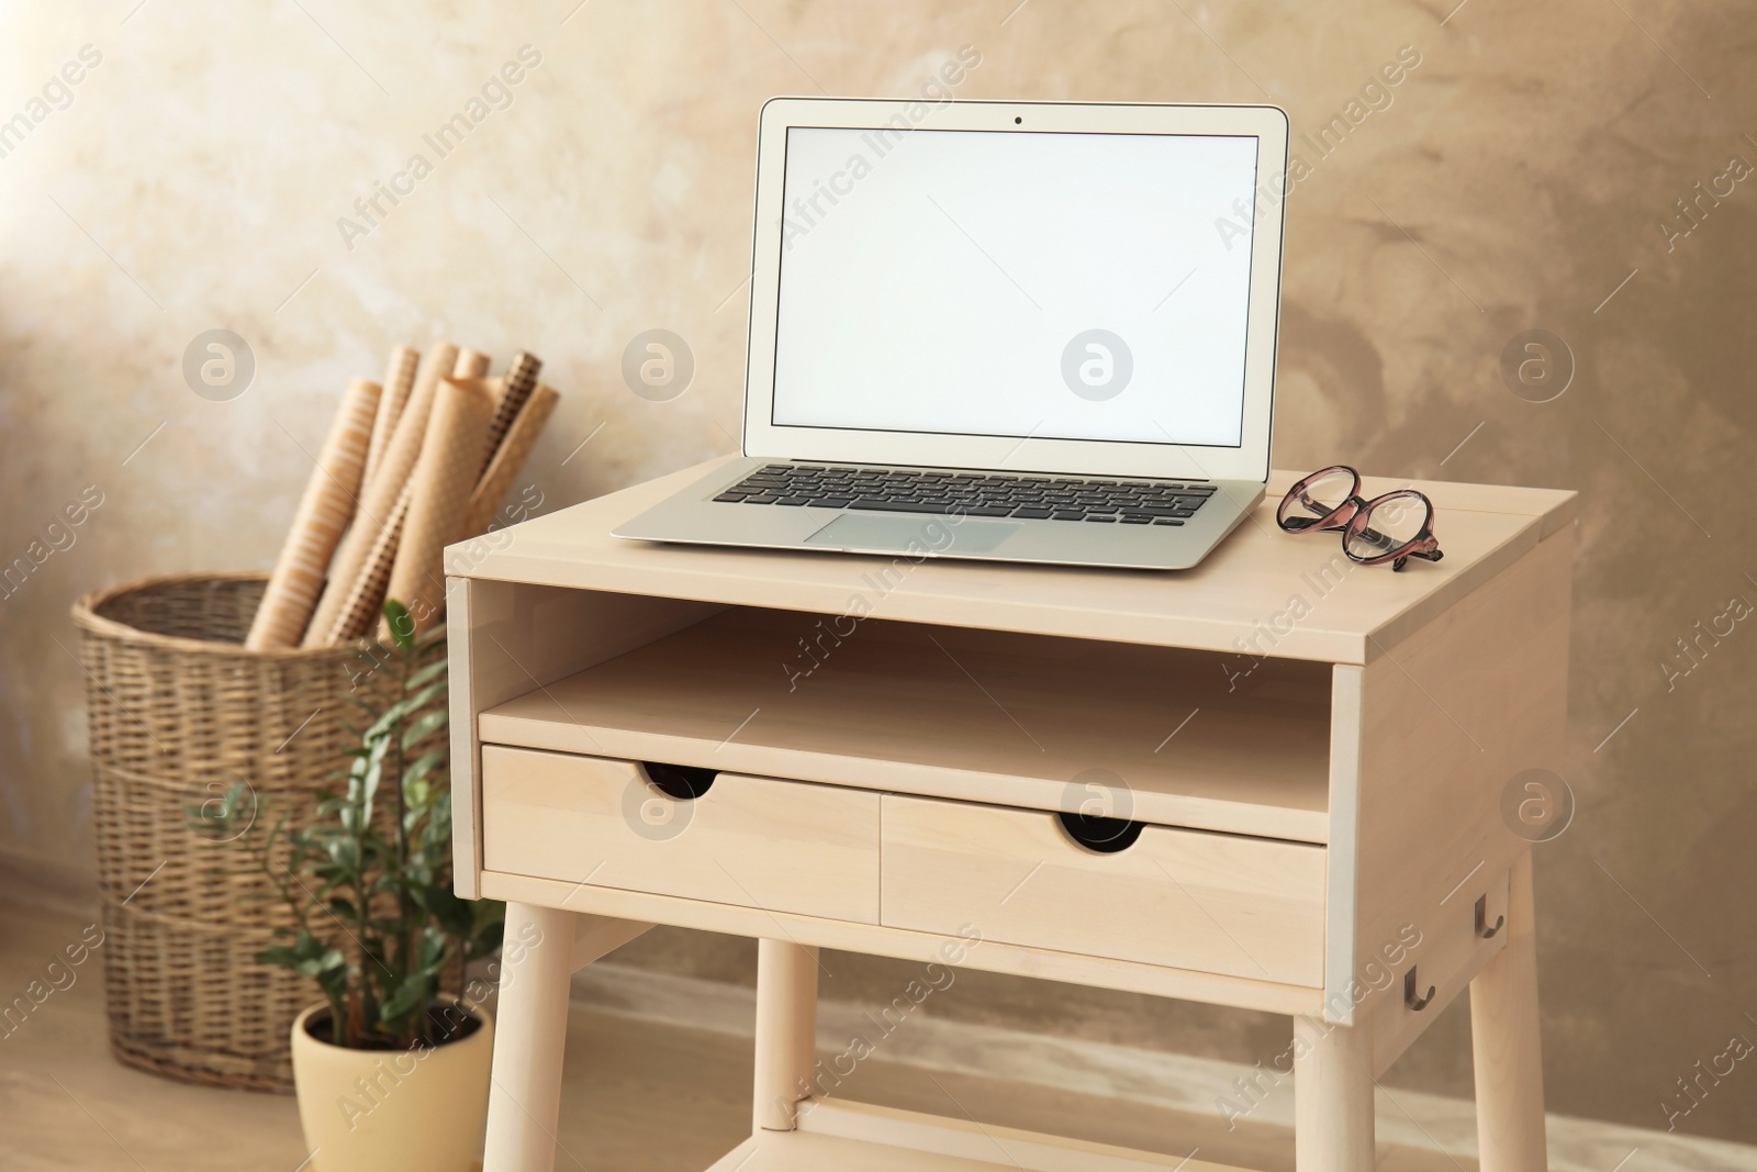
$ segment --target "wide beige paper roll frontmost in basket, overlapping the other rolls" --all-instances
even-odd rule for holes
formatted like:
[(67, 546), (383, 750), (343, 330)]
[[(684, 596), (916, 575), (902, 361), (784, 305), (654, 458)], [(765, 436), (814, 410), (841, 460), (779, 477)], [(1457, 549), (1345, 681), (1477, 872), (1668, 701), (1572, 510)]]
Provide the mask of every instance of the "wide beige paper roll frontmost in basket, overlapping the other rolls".
[(409, 515), (388, 589), (388, 597), (409, 608), (416, 633), (434, 627), (445, 613), (445, 546), (467, 536), (469, 497), (492, 418), (494, 395), (485, 380), (448, 378), (439, 385), (422, 459), (409, 480)]

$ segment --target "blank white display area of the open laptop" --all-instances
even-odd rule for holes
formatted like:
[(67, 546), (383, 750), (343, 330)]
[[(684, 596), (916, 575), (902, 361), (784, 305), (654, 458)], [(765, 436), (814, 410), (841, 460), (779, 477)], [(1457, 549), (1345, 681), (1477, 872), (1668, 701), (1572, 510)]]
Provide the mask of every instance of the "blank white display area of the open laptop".
[(789, 128), (771, 422), (1237, 448), (1256, 148)]

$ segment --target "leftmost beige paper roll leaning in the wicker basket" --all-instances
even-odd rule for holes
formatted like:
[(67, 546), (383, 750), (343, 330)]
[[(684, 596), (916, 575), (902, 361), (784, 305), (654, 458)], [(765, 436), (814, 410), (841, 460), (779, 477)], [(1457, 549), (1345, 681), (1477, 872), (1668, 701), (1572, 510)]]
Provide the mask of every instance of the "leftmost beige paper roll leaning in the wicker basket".
[(257, 617), (244, 636), (246, 648), (264, 652), (299, 647), (311, 606), (323, 589), (330, 555), (353, 517), (380, 399), (378, 383), (364, 378), (348, 383), (323, 450), (318, 452), (318, 464), (306, 480), (306, 494), (299, 497), (293, 527), (286, 532), (269, 587), (262, 592)]

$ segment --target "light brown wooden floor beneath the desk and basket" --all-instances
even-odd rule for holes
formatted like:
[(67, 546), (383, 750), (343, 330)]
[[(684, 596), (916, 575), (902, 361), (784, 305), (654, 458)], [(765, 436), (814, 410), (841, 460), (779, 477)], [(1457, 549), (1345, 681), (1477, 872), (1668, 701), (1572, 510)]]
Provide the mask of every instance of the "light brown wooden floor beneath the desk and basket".
[[(88, 921), (0, 901), (0, 1000), (42, 975)], [(306, 1160), (290, 1096), (216, 1091), (116, 1065), (104, 1037), (102, 959), (0, 1037), (0, 1168), (7, 1172), (293, 1172)], [(65, 984), (65, 979), (63, 979)], [(4, 1030), (0, 1030), (4, 1033)], [(557, 1172), (703, 1172), (750, 1128), (747, 1038), (576, 1007)], [(852, 1098), (986, 1125), (1093, 1139), (1265, 1172), (1291, 1172), (1281, 1128), (1226, 1132), (1142, 1105), (870, 1060)], [(1381, 1172), (1471, 1172), (1471, 1160), (1381, 1147)], [(413, 1170), (418, 1172), (418, 1170)]]

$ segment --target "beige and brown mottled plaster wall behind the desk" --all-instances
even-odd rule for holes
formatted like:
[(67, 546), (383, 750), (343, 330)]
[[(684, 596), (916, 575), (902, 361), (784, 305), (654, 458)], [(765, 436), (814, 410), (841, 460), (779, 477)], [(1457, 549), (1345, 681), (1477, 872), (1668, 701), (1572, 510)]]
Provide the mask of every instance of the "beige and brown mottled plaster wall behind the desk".
[[(102, 494), (70, 548), (0, 599), (7, 866), (90, 873), (67, 604), (149, 573), (267, 566), (302, 448), (392, 344), (443, 332), (546, 358), (568, 395), (532, 466), (550, 506), (733, 446), (763, 98), (915, 93), (968, 44), (982, 61), (965, 97), (1270, 98), (1316, 132), (1411, 46), (1390, 105), (1330, 156), (1305, 153), (1288, 204), (1277, 462), (1583, 492), (1578, 815), (1537, 849), (1550, 1103), (1666, 1126), (1662, 1103), (1690, 1105), (1676, 1079), (1757, 1038), (1757, 634), (1718, 619), (1688, 675), (1688, 659), (1662, 668), (1697, 620), (1757, 603), (1757, 188), (1718, 179), (1731, 193), (1688, 235), (1659, 227), (1731, 158), (1757, 162), (1750, 7), (1016, 2), (7, 5), (0, 118), (30, 118), (81, 46), (102, 54), (0, 158), (0, 557)], [(436, 160), (422, 134), (524, 44), (541, 65), (511, 105)], [(416, 151), (434, 172), (348, 248), (337, 218)], [(230, 402), (179, 374), (214, 327), (257, 355)], [(675, 402), (618, 378), (652, 327), (694, 348)], [(1573, 350), (1553, 402), (1499, 374), (1532, 327)], [(685, 935), (641, 956), (748, 966), (748, 945)], [(840, 970), (843, 991), (894, 982)], [(1246, 1061), (1283, 1049), (1270, 1017), (979, 975), (959, 989), (935, 1012)], [(1465, 1026), (1450, 1010), (1392, 1082), (1467, 1093)], [(1703, 1082), (1676, 1126), (1757, 1139), (1746, 1065)]]

